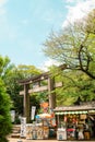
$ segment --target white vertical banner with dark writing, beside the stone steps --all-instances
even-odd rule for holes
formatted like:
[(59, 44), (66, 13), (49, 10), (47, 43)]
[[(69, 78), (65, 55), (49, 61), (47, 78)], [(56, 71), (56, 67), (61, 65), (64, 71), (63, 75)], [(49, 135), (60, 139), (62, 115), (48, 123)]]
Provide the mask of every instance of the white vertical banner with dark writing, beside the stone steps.
[(26, 118), (21, 117), (21, 138), (26, 137)]

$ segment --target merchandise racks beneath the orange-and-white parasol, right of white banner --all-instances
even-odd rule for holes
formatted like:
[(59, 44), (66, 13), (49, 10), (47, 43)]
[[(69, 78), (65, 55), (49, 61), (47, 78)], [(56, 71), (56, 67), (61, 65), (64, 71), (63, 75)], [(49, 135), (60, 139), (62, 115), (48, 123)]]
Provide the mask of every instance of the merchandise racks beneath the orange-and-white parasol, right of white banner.
[(49, 126), (51, 116), (49, 114), (40, 114), (36, 116), (34, 123), (26, 123), (27, 140), (43, 140), (49, 138)]

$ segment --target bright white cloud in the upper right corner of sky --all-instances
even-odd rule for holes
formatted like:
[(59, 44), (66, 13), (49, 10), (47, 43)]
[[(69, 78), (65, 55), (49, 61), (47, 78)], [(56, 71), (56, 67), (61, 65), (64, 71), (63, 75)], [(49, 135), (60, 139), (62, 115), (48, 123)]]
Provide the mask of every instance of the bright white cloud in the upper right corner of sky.
[(95, 0), (68, 0), (75, 2), (75, 5), (67, 5), (68, 9), (68, 16), (67, 20), (63, 22), (63, 27), (68, 25), (68, 23), (72, 23), (76, 20), (82, 19), (91, 10), (95, 9)]

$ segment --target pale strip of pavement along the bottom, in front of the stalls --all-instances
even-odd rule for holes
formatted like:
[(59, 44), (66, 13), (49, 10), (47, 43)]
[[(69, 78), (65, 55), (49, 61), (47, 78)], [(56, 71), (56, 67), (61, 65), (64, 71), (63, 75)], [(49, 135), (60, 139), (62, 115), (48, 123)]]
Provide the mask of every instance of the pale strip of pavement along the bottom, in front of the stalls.
[[(26, 140), (26, 139), (14, 139), (14, 138), (9, 138), (9, 142), (60, 142), (60, 141), (58, 141), (58, 140)], [(61, 142), (78, 142), (78, 141), (64, 141), (64, 140), (62, 140)], [(81, 141), (80, 140), (80, 142), (95, 142), (95, 140), (94, 141)]]

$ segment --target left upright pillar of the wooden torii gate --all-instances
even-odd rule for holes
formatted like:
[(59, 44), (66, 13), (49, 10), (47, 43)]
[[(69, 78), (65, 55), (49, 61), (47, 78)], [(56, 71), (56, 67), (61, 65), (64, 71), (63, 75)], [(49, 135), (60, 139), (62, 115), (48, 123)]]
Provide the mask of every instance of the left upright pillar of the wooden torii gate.
[(24, 117), (26, 117), (26, 122), (29, 122), (29, 94), (27, 84), (24, 84)]

